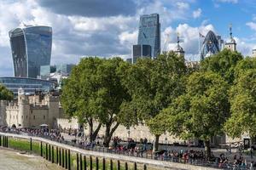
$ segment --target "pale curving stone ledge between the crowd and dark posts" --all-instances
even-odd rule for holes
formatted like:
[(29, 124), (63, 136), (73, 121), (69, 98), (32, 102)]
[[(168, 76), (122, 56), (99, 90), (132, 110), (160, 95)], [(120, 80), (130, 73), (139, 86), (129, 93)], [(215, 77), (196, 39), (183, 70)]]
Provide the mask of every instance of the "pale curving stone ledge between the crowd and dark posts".
[(182, 164), (182, 163), (175, 163), (175, 162), (170, 162), (170, 161), (158, 161), (158, 160), (151, 160), (151, 159), (146, 159), (142, 157), (133, 157), (133, 156), (122, 156), (122, 155), (116, 155), (116, 154), (110, 154), (110, 153), (103, 153), (103, 152), (96, 152), (96, 151), (91, 151), (91, 150), (82, 150), (67, 144), (60, 144), (55, 141), (51, 141), (48, 139), (43, 139), (43, 138), (38, 138), (38, 137), (30, 137), (30, 136), (23, 136), (19, 134), (12, 134), (12, 133), (0, 133), (0, 135), (5, 135), (9, 137), (15, 137), (15, 138), (20, 138), (20, 139), (31, 139), (32, 140), (38, 140), (42, 141), (45, 143), (53, 144), (58, 147), (62, 147), (67, 150), (72, 150), (74, 152), (81, 153), (85, 156), (97, 156), (97, 157), (105, 157), (108, 159), (113, 159), (113, 160), (119, 160), (119, 161), (131, 161), (131, 162), (137, 162), (137, 163), (142, 163), (142, 164), (148, 164), (150, 166), (154, 167), (166, 167), (168, 169), (191, 169), (191, 170), (213, 170), (216, 168), (211, 168), (211, 167), (199, 167), (199, 166), (194, 166), (194, 165), (189, 165), (189, 164)]

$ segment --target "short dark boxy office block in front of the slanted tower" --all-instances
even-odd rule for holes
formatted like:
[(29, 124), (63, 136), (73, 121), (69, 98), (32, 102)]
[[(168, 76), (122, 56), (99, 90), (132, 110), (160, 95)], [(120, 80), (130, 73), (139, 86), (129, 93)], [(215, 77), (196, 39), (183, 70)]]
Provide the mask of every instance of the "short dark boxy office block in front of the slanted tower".
[(133, 45), (132, 46), (132, 63), (136, 63), (139, 58), (151, 58), (150, 45)]

